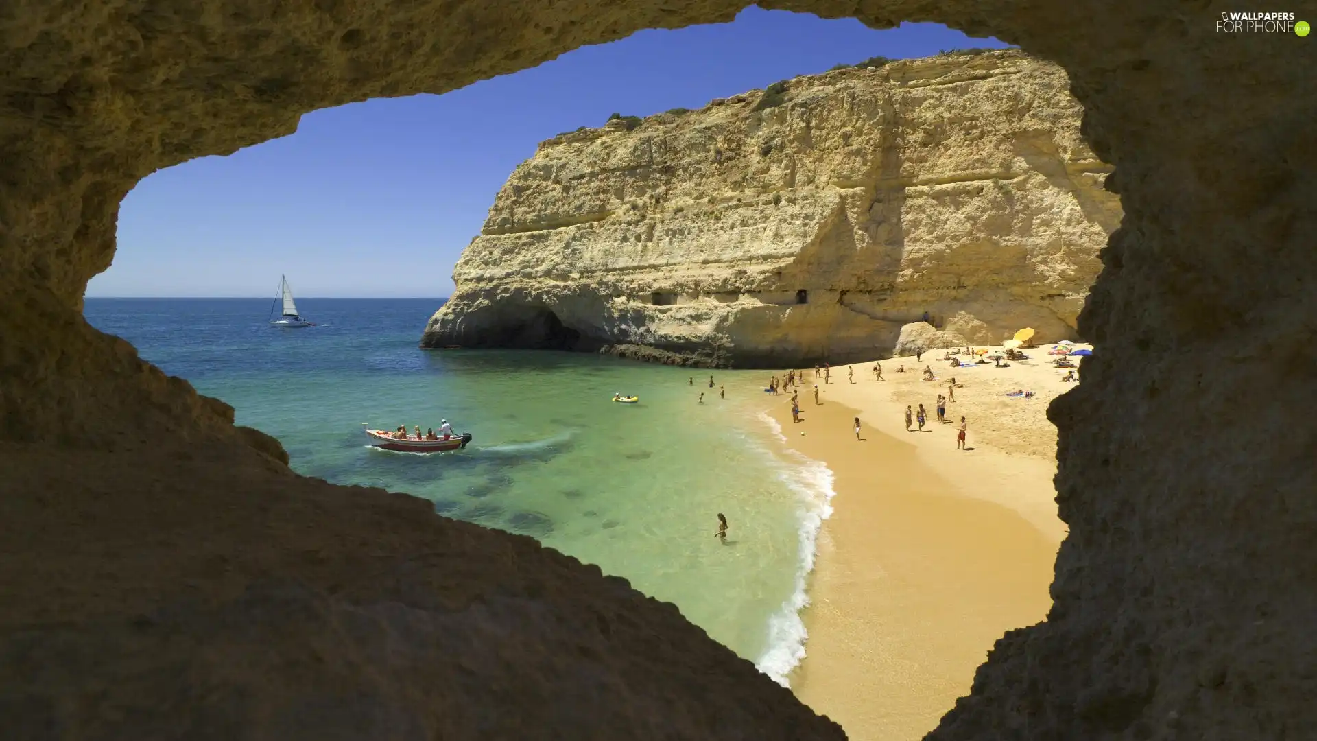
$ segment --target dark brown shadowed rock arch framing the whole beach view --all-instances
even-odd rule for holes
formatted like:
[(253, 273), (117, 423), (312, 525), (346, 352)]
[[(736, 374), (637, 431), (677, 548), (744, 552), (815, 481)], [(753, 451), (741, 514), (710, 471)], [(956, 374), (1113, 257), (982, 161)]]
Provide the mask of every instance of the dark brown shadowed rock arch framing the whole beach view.
[[(1058, 501), (1071, 526), (1055, 607), (1047, 622), (998, 642), (932, 737), (1260, 738), (1310, 725), (1317, 423), (1303, 410), (1317, 401), (1317, 251), (1300, 214), (1317, 200), (1313, 42), (1218, 34), (1214, 20), (1233, 8), (1201, 1), (764, 7), (880, 28), (939, 21), (1060, 63), (1123, 199), (1122, 228), (1080, 318), (1100, 349), (1084, 361), (1084, 385), (1051, 409)], [(357, 691), (357, 704), (333, 707), (361, 733), (461, 736), (482, 723), (525, 723), (585, 738), (666, 723), (691, 737), (836, 737), (674, 610), (597, 571), (515, 537), (416, 523), (424, 508), (414, 500), (291, 476), (278, 443), (234, 429), (230, 409), (141, 363), (79, 311), (87, 280), (113, 256), (119, 202), (155, 169), (291, 133), (316, 108), (444, 92), (585, 44), (728, 21), (739, 9), (711, 0), (162, 0), (0, 11), (0, 542), (11, 550), (0, 584), (13, 607), (0, 610), (3, 641), (67, 649), (36, 679), (0, 651), (7, 690), (22, 686), (30, 700), (12, 707), (34, 723), (68, 712), (57, 697), (91, 692), (74, 680), (94, 674), (75, 666), (79, 655), (167, 645), (159, 676), (171, 676), (165, 666), (221, 676), (186, 649), (205, 643), (204, 626), (228, 626), (220, 639), (248, 655), (253, 643), (232, 626), (259, 613), (315, 628), (267, 655), (259, 678), (229, 676), (229, 694), (179, 690), (178, 723), (241, 711), (303, 728), (299, 719), (328, 700), (278, 684), (300, 671)], [(187, 506), (213, 506), (212, 527), (190, 525), (179, 514)], [(350, 519), (374, 523), (374, 541), (357, 543)], [(300, 522), (338, 539), (308, 535)], [(142, 559), (157, 559), (155, 571)], [(271, 574), (298, 581), (274, 587)], [(512, 653), (464, 653), (465, 668), (449, 674), (366, 671), (377, 666), (370, 636), (392, 632), (435, 650), (427, 630), (478, 638), (491, 624), (512, 637)], [(252, 639), (274, 641), (271, 625)], [(691, 661), (651, 674), (664, 666), (652, 636), (666, 641), (664, 661), (674, 646)], [(344, 643), (358, 653), (344, 654)], [(482, 703), (494, 705), (478, 680), (512, 676), (499, 662), (529, 655), (543, 662), (515, 687), (543, 701), (482, 713)], [(132, 668), (126, 658), (109, 666), (96, 680)], [(536, 695), (554, 672), (581, 667), (607, 668), (578, 694)], [(448, 697), (448, 715), (408, 695), (415, 682)], [(266, 694), (242, 704), (237, 688)], [(703, 696), (718, 697), (716, 708)], [(595, 715), (561, 711), (587, 704)], [(113, 723), (95, 719), (96, 728)]]

